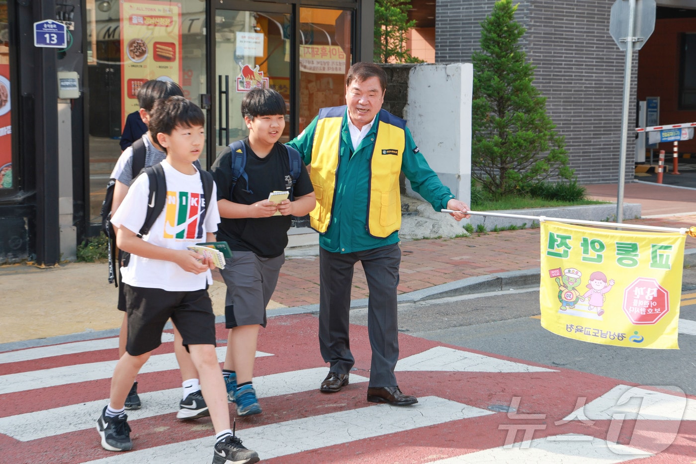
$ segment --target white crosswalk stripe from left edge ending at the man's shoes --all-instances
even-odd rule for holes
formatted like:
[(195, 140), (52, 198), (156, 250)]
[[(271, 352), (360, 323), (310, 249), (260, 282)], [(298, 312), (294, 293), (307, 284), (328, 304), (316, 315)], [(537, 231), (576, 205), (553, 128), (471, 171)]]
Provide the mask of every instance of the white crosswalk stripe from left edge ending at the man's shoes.
[[(253, 382), (258, 398), (267, 398), (315, 390), (325, 374), (326, 367), (317, 367), (260, 376), (254, 378)], [(350, 376), (351, 384), (367, 382), (367, 380), (369, 379), (356, 374)], [(134, 421), (145, 417), (177, 412), (181, 391), (180, 388), (171, 388), (157, 392), (140, 393), (143, 408), (127, 411), (128, 423), (133, 424)], [(1, 417), (0, 433), (15, 438), (15, 440), (28, 442), (61, 433), (92, 428), (102, 412), (102, 408), (108, 402), (107, 398), (61, 408)], [(175, 419), (172, 417), (172, 420)]]

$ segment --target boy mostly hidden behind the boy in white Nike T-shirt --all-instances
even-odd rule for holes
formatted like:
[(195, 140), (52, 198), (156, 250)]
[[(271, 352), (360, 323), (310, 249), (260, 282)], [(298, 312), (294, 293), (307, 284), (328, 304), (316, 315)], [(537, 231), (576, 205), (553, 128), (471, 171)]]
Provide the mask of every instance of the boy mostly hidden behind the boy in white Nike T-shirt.
[[(184, 96), (180, 86), (171, 81), (150, 80), (145, 82), (138, 91), (138, 104), (140, 105), (140, 116), (142, 121), (148, 125), (152, 117), (152, 108), (158, 100), (166, 100), (171, 96)], [(159, 146), (157, 139), (151, 132), (145, 132), (143, 136), (136, 140), (134, 144), (126, 148), (118, 158), (116, 167), (111, 172), (111, 178), (115, 179), (113, 186), (113, 200), (111, 203), (111, 215), (118, 209), (121, 201), (126, 196), (129, 185), (138, 176), (144, 167), (158, 164), (166, 154), (164, 149)], [(194, 162), (197, 169), (200, 169), (198, 159)], [(122, 256), (118, 262), (122, 263)], [(123, 322), (118, 337), (118, 357), (125, 353), (126, 339), (128, 334), (127, 313), (125, 308), (125, 295), (123, 286), (118, 288), (118, 309), (124, 311)], [(179, 363), (182, 376), (182, 401), (179, 403), (177, 419), (197, 419), (208, 415), (207, 405), (200, 393), (200, 383), (198, 381), (198, 371), (193, 366), (191, 355), (181, 343), (181, 336), (176, 325), (174, 329), (174, 353)], [(140, 409), (141, 401), (138, 396), (138, 382), (133, 382), (131, 391), (125, 402), (126, 409)]]

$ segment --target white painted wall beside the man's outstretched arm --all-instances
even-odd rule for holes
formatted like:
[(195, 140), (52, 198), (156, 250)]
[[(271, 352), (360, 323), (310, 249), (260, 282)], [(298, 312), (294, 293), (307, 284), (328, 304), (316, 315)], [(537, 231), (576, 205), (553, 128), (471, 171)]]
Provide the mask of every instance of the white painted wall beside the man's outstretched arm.
[[(471, 198), (471, 63), (414, 66), (404, 118), (420, 152), (457, 199)], [(406, 179), (406, 192), (411, 190)]]

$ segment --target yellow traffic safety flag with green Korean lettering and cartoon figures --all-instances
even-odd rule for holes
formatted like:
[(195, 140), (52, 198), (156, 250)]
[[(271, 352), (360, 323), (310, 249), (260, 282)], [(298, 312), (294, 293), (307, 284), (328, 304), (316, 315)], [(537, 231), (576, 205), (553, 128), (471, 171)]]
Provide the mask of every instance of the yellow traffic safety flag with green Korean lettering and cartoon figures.
[(541, 223), (541, 326), (569, 339), (678, 349), (685, 235)]

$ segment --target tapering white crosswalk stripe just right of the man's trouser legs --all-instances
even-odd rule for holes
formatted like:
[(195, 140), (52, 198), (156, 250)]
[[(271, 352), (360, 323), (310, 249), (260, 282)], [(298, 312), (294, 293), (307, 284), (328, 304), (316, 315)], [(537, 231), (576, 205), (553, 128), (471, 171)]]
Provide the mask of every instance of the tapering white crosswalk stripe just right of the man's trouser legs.
[(452, 372), (557, 372), (545, 367), (506, 361), (497, 357), (455, 350), (446, 346), (430, 348), (422, 353), (400, 359), (397, 371), (452, 371)]

